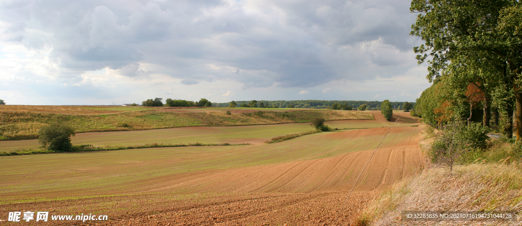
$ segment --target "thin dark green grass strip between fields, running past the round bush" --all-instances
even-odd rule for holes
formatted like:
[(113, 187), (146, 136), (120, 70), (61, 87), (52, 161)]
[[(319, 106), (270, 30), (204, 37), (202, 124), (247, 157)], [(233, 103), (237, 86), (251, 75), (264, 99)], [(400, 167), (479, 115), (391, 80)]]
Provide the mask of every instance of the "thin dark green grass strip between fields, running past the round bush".
[[(143, 145), (132, 145), (132, 146), (92, 146), (90, 144), (82, 144), (73, 146), (74, 152), (95, 152), (100, 150), (128, 150), (128, 149), (140, 149), (140, 148), (155, 148), (155, 147), (192, 147), (192, 146), (236, 146), (236, 145), (250, 145), (248, 143), (243, 144), (201, 144), (201, 143), (188, 143), (188, 144), (143, 144)], [(34, 155), (34, 154), (52, 154), (52, 153), (65, 153), (60, 150), (46, 150), (46, 149), (28, 149), (28, 150), (12, 150), (9, 152), (0, 152), (0, 156), (13, 156), (13, 155)]]

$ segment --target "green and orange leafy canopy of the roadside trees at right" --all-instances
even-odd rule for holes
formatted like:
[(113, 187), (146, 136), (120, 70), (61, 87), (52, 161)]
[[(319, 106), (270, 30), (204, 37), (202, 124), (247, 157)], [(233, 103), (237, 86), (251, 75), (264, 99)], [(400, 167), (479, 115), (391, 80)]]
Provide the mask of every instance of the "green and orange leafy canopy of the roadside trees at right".
[[(419, 14), (411, 34), (424, 41), (413, 50), (418, 54), (419, 64), (428, 62), (426, 78), (433, 82), (433, 88), (418, 99), (416, 113), (425, 120), (440, 123), (449, 116), (463, 118), (468, 108), (466, 118), (470, 121), (476, 115), (475, 107), (480, 105), (482, 125), (489, 127), (492, 106), (495, 124), (500, 115), (509, 121), (509, 108), (513, 106), (502, 99), (513, 92), (519, 140), (522, 137), (522, 3), (413, 0), (410, 10)], [(506, 90), (508, 87), (511, 91)], [(448, 92), (441, 95), (433, 90)], [(483, 95), (480, 104), (474, 98), (478, 93)], [(430, 99), (436, 103), (429, 103)]]

